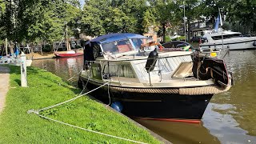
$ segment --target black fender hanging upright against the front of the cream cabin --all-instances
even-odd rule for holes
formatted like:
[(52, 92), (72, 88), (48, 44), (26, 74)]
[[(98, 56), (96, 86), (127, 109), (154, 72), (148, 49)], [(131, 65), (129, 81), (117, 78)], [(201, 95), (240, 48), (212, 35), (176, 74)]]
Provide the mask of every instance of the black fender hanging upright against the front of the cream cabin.
[(147, 58), (146, 61), (146, 71), (149, 73), (150, 71), (154, 70), (155, 63), (157, 62), (158, 59), (158, 51), (155, 48), (153, 51), (150, 52), (149, 57)]

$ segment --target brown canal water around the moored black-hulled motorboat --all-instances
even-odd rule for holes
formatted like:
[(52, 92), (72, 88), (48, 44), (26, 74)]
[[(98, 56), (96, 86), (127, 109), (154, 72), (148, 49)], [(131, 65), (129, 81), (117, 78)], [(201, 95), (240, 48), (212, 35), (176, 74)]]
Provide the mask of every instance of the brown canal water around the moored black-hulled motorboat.
[[(83, 57), (34, 60), (76, 85)], [(256, 143), (256, 50), (234, 50), (224, 58), (234, 86), (211, 99), (200, 124), (138, 120), (173, 143)]]

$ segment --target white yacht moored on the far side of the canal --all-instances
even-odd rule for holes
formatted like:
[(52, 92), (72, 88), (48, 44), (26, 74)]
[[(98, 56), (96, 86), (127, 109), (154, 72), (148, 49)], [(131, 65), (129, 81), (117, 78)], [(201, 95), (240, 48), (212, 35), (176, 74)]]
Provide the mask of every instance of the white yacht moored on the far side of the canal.
[[(224, 50), (243, 50), (255, 49), (256, 37), (242, 37), (239, 32), (226, 31), (220, 28), (216, 30), (204, 31), (204, 36), (207, 41), (199, 46), (203, 50), (209, 49), (224, 49)], [(222, 39), (223, 38), (223, 39)]]

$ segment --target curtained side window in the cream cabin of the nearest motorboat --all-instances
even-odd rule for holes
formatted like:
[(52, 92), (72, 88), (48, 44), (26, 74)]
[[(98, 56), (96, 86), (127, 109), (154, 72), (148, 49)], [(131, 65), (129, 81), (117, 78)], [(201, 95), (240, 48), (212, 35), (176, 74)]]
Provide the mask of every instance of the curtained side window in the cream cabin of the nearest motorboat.
[[(108, 73), (108, 65), (103, 67), (103, 72)], [(130, 64), (110, 63), (110, 77), (135, 78), (134, 70)]]

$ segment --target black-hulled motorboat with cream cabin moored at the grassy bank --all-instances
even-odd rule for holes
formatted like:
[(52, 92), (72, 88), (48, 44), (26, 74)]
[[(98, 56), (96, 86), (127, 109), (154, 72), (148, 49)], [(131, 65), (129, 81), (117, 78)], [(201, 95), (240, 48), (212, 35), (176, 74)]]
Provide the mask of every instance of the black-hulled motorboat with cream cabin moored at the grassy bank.
[(130, 117), (200, 120), (214, 94), (230, 89), (225, 63), (206, 54), (159, 50), (139, 34), (86, 42), (78, 86)]

